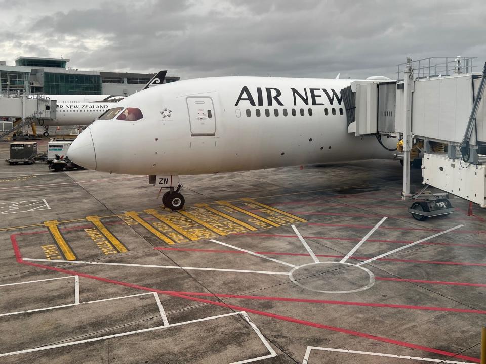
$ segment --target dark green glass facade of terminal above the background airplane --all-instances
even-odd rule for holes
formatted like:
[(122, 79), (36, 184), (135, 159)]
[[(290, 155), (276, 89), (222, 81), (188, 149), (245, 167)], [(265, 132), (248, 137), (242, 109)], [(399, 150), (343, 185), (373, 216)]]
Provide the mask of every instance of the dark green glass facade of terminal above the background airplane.
[(101, 95), (101, 76), (44, 72), (44, 92), (55, 95)]

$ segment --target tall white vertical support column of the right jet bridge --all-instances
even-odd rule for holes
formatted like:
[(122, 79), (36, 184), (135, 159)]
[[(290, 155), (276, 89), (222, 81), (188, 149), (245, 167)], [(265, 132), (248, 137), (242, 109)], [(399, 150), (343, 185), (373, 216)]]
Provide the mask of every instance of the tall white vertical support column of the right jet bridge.
[(414, 70), (412, 68), (412, 57), (407, 56), (407, 65), (403, 71), (403, 112), (405, 125), (403, 130), (403, 191), (402, 199), (409, 199), (410, 193), (410, 150), (412, 149), (412, 92), (414, 88)]

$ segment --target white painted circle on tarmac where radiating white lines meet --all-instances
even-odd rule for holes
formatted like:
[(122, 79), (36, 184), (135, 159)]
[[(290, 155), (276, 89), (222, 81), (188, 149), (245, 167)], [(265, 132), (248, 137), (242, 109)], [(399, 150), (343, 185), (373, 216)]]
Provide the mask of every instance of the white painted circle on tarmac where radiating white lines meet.
[[(375, 275), (367, 268), (350, 263), (318, 262), (295, 267), (289, 272), (297, 286), (321, 293), (354, 293), (375, 284)], [(363, 282), (368, 282), (363, 286)]]

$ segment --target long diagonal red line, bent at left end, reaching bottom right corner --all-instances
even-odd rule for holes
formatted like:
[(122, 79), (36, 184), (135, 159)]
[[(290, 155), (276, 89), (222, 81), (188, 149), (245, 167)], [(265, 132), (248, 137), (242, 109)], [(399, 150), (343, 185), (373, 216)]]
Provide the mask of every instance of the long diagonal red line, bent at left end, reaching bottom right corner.
[(85, 278), (94, 279), (94, 280), (107, 282), (107, 283), (112, 283), (112, 284), (116, 284), (116, 285), (120, 285), (120, 286), (126, 286), (126, 287), (135, 288), (135, 289), (140, 289), (140, 290), (144, 290), (144, 291), (148, 291), (148, 292), (156, 292), (156, 293), (160, 293), (160, 294), (171, 295), (171, 296), (174, 296), (174, 297), (185, 298), (185, 299), (196, 301), (196, 302), (208, 303), (208, 304), (212, 304), (212, 305), (216, 305), (216, 306), (220, 306), (220, 307), (231, 308), (231, 309), (239, 310), (239, 311), (245, 311), (245, 312), (248, 312), (248, 313), (254, 313), (254, 314), (258, 314), (258, 315), (262, 315), (262, 316), (272, 317), (273, 319), (278, 319), (278, 320), (292, 322), (292, 323), (296, 323), (296, 324), (316, 327), (316, 328), (320, 328), (320, 329), (331, 330), (331, 331), (335, 331), (335, 332), (341, 332), (341, 333), (344, 333), (344, 334), (363, 337), (363, 338), (367, 338), (367, 339), (371, 339), (371, 340), (375, 340), (375, 341), (399, 345), (399, 346), (408, 347), (408, 348), (412, 348), (412, 349), (432, 352), (432, 353), (435, 353), (435, 354), (444, 355), (444, 356), (448, 356), (448, 357), (454, 356), (454, 357), (457, 357), (457, 358), (460, 358), (460, 359), (470, 360), (470, 361), (474, 361), (474, 362), (480, 362), (480, 359), (478, 359), (478, 358), (465, 356), (465, 355), (458, 355), (458, 354), (448, 352), (448, 351), (429, 348), (429, 347), (426, 347), (426, 346), (416, 345), (416, 344), (412, 344), (412, 343), (408, 343), (408, 342), (404, 342), (404, 341), (393, 340), (393, 339), (389, 339), (389, 338), (385, 338), (385, 337), (381, 337), (381, 336), (376, 336), (376, 335), (371, 335), (371, 334), (367, 334), (367, 333), (363, 333), (363, 332), (359, 332), (359, 331), (353, 331), (353, 330), (343, 329), (343, 328), (339, 328), (339, 327), (335, 327), (335, 326), (323, 325), (323, 324), (319, 324), (319, 323), (315, 323), (315, 322), (311, 322), (311, 321), (295, 319), (294, 317), (290, 317), (290, 316), (277, 315), (277, 314), (274, 314), (274, 313), (258, 311), (258, 310), (254, 310), (254, 309), (250, 309), (250, 308), (246, 308), (246, 307), (229, 305), (229, 304), (226, 304), (226, 303), (223, 303), (223, 302), (215, 302), (215, 301), (210, 301), (210, 300), (206, 300), (206, 299), (202, 299), (202, 298), (191, 297), (191, 296), (181, 294), (181, 292), (177, 292), (177, 291), (161, 291), (161, 290), (156, 290), (156, 289), (149, 288), (149, 287), (135, 285), (135, 284), (128, 283), (128, 282), (115, 281), (115, 280), (108, 279), (108, 278), (88, 275), (88, 274), (76, 272), (76, 271), (73, 271), (73, 270), (56, 268), (56, 267), (51, 267), (51, 266), (32, 263), (32, 262), (26, 262), (26, 261), (22, 260), (22, 256), (20, 254), (20, 250), (18, 248), (18, 244), (17, 244), (15, 237), (14, 237), (14, 239), (12, 239), (12, 245), (14, 247), (14, 252), (15, 252), (15, 256), (17, 257), (17, 261), (20, 262), (21, 264), (30, 265), (30, 266), (34, 266), (34, 267), (38, 267), (38, 268), (42, 268), (42, 269), (54, 270), (54, 271), (58, 271), (58, 272), (68, 274), (68, 275), (85, 277)]

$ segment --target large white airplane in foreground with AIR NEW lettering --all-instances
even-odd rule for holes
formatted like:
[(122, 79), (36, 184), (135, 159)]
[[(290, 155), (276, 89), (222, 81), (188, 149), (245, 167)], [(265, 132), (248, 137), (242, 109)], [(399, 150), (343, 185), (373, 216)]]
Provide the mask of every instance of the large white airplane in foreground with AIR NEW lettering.
[(185, 203), (181, 175), (392, 158), (375, 138), (348, 132), (340, 90), (352, 81), (234, 76), (165, 84), (118, 102), (77, 136), (69, 158), (92, 170), (149, 175), (169, 188), (162, 202), (172, 210)]

